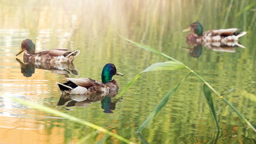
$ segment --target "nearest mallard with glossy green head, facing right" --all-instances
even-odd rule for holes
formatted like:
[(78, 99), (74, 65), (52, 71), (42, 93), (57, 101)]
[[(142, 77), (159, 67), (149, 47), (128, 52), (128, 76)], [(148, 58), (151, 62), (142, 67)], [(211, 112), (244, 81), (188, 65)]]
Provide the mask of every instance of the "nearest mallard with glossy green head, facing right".
[(120, 75), (114, 64), (106, 64), (102, 70), (102, 82), (89, 78), (66, 78), (66, 83), (56, 83), (59, 86), (62, 94), (107, 94), (110, 91), (117, 91), (117, 82), (112, 79), (112, 76)]

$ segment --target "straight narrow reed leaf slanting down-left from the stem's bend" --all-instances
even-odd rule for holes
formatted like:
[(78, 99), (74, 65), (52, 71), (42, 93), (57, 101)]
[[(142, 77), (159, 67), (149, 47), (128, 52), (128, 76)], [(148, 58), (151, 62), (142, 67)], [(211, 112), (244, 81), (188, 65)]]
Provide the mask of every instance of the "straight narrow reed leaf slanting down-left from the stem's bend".
[(152, 121), (152, 119), (157, 115), (157, 113), (165, 106), (165, 104), (167, 103), (167, 101), (171, 98), (172, 95), (174, 95), (175, 91), (177, 91), (178, 87), (181, 85), (181, 83), (190, 75), (187, 74), (186, 77), (184, 77), (183, 80), (181, 80), (178, 85), (174, 86), (174, 88), (172, 88), (166, 95), (165, 97), (163, 97), (162, 101), (160, 101), (160, 103), (158, 104), (158, 106), (156, 107), (156, 109), (153, 110), (153, 112), (150, 114), (150, 116), (148, 116), (148, 118), (146, 119), (146, 121), (144, 121), (144, 123), (141, 125), (141, 127), (139, 127), (137, 133), (141, 133), (141, 131), (147, 127), (147, 125)]

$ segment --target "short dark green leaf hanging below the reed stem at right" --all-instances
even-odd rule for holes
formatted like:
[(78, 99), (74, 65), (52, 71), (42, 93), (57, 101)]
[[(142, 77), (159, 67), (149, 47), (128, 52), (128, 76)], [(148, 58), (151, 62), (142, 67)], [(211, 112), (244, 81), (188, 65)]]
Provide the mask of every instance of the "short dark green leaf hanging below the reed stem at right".
[(210, 88), (206, 84), (204, 84), (203, 89), (204, 89), (204, 96), (206, 97), (207, 103), (210, 107), (210, 110), (212, 111), (213, 118), (215, 119), (217, 128), (219, 130), (219, 122), (218, 122), (218, 119), (217, 119), (217, 116), (216, 116), (216, 113), (215, 113), (215, 109), (214, 109), (214, 106), (213, 106), (212, 91), (210, 90)]

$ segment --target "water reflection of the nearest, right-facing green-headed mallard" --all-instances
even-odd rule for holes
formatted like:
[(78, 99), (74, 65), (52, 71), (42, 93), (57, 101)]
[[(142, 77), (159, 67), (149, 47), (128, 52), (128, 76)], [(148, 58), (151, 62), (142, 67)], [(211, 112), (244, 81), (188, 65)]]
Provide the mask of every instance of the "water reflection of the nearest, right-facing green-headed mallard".
[(68, 107), (88, 107), (89, 104), (101, 101), (103, 112), (113, 113), (117, 100), (113, 101), (112, 98), (118, 94), (118, 91), (110, 91), (108, 94), (91, 93), (87, 95), (69, 95), (62, 94), (56, 106), (64, 106), (67, 110)]

